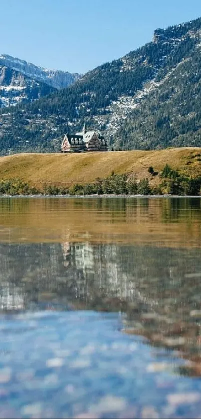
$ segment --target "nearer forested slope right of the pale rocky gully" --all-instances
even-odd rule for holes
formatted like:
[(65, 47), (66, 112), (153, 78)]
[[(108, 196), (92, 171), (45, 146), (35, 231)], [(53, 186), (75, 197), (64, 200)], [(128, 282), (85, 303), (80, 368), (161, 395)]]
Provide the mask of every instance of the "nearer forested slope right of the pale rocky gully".
[(200, 31), (186, 46), (186, 56), (176, 65), (170, 62), (165, 77), (161, 71), (150, 83), (149, 94), (117, 133), (116, 147), (201, 146)]

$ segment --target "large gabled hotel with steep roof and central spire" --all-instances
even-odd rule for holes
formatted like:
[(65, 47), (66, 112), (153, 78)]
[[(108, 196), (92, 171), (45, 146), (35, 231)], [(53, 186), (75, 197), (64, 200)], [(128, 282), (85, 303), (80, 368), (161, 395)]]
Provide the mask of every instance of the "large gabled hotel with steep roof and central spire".
[(107, 142), (100, 132), (87, 131), (84, 124), (82, 132), (65, 134), (61, 152), (108, 151)]

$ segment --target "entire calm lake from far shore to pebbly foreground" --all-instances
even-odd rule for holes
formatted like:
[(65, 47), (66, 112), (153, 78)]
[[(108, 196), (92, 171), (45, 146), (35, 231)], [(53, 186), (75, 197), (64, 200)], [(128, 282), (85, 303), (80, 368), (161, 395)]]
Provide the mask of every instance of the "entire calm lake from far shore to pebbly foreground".
[(201, 418), (201, 199), (0, 198), (0, 418)]

